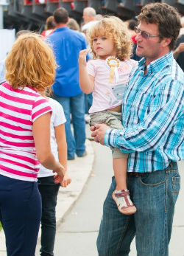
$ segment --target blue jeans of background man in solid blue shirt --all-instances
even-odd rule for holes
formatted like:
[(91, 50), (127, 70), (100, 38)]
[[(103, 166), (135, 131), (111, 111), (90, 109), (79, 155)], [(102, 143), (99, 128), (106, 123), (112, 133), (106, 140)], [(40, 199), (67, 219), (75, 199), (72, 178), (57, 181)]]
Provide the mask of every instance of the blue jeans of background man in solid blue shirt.
[[(85, 153), (85, 95), (83, 92), (74, 97), (60, 97), (54, 94), (62, 106), (66, 116), (66, 142), (68, 146), (68, 159), (74, 159)], [(71, 118), (74, 127), (74, 136), (71, 133)]]

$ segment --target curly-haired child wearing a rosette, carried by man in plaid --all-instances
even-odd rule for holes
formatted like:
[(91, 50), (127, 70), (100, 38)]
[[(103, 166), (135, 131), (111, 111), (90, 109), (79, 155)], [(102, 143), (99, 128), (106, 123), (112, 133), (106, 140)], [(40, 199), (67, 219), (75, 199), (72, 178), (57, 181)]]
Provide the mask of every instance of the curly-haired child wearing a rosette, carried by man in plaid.
[[(102, 18), (88, 31), (93, 60), (86, 63), (87, 49), (79, 53), (79, 84), (85, 94), (93, 91), (93, 104), (89, 110), (90, 125), (105, 123), (122, 129), (121, 104), (130, 72), (137, 66), (130, 60), (132, 43), (127, 27), (115, 16)], [(116, 190), (113, 199), (121, 213), (136, 212), (127, 190), (127, 157), (118, 148), (113, 151), (113, 170)]]

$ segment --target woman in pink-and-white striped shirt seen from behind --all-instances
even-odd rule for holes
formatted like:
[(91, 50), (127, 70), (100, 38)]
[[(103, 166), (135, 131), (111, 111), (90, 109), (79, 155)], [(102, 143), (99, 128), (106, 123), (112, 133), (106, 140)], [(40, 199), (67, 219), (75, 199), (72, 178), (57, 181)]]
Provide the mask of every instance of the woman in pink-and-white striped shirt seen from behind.
[(50, 148), (52, 108), (40, 94), (54, 83), (52, 49), (36, 34), (21, 35), (5, 61), (0, 86), (0, 221), (7, 255), (35, 255), (41, 218), (40, 163), (65, 176)]

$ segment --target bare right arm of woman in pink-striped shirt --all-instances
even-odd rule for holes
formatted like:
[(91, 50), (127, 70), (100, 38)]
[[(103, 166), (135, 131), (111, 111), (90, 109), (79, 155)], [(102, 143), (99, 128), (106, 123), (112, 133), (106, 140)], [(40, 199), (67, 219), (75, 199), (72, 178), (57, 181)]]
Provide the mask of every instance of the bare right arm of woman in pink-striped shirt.
[(65, 169), (60, 162), (56, 161), (51, 151), (50, 119), (51, 113), (46, 113), (33, 122), (32, 133), (35, 141), (35, 149), (40, 164), (58, 173), (62, 181), (65, 175)]

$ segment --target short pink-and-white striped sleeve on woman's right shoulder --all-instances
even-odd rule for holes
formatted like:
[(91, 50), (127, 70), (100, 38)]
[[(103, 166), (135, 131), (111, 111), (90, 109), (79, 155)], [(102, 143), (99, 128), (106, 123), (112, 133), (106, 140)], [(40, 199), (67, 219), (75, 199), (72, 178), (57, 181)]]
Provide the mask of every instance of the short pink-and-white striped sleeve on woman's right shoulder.
[(35, 122), (38, 117), (48, 112), (52, 112), (52, 107), (48, 100), (43, 97), (37, 97), (35, 103), (32, 105), (32, 122)]

